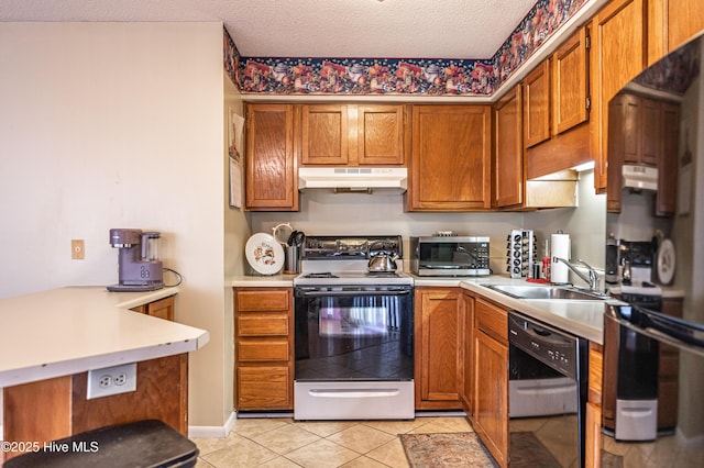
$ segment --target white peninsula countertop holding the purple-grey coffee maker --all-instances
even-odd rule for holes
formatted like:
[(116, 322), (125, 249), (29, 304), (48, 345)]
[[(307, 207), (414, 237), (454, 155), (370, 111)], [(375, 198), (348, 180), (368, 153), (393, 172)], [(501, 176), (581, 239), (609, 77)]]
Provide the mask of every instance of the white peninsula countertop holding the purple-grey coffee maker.
[(129, 310), (177, 292), (67, 287), (0, 299), (0, 387), (202, 347), (207, 331)]

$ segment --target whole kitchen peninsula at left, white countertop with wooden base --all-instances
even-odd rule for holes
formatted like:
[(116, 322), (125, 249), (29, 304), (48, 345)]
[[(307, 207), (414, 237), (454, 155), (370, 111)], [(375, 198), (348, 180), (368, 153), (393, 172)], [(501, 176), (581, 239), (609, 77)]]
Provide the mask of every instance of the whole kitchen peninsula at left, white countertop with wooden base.
[[(0, 438), (42, 447), (150, 419), (187, 434), (188, 353), (206, 345), (209, 334), (130, 310), (176, 293), (177, 288), (67, 287), (0, 299)], [(128, 379), (134, 379), (134, 389), (88, 398), (89, 370), (101, 369), (102, 377), (111, 371), (106, 368), (133, 363)], [(22, 448), (11, 447), (0, 453), (0, 463), (21, 454)]]

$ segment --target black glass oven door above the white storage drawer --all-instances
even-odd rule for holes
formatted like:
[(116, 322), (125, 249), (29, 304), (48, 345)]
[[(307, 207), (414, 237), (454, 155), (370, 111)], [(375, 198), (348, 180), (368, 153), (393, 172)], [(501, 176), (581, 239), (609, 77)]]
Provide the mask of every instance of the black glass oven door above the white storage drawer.
[(297, 287), (301, 380), (411, 380), (413, 287)]

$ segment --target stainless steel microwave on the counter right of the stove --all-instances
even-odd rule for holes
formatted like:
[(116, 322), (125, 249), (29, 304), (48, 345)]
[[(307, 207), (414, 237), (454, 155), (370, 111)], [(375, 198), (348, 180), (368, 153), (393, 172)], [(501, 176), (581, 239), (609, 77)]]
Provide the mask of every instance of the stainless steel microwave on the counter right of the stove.
[(487, 236), (410, 237), (410, 270), (418, 276), (488, 276)]

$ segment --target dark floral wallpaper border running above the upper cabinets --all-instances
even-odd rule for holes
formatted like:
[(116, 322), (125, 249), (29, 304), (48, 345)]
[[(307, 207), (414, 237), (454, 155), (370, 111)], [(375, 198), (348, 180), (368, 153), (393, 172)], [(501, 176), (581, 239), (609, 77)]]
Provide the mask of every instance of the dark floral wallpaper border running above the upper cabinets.
[(224, 68), (245, 93), (491, 96), (587, 0), (538, 0), (494, 57), (242, 57), (223, 31)]

